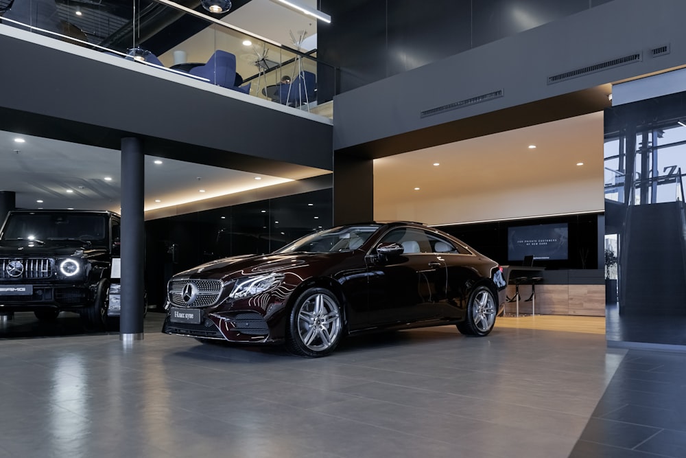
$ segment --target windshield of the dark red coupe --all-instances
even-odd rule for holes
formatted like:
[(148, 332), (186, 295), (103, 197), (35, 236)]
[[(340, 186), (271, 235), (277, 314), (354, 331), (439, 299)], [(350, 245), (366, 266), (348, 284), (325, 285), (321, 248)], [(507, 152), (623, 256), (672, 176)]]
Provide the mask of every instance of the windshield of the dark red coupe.
[(293, 253), (305, 251), (308, 253), (331, 253), (334, 251), (353, 251), (379, 230), (380, 225), (360, 225), (334, 227), (311, 233), (287, 244), (275, 253)]

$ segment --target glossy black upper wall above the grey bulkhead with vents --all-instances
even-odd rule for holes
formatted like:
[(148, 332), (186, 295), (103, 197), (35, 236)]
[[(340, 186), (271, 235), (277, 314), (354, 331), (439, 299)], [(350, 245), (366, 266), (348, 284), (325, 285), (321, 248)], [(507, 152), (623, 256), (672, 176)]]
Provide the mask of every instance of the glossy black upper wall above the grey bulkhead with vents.
[(318, 58), (340, 67), (345, 92), (608, 1), (321, 0), (332, 21)]

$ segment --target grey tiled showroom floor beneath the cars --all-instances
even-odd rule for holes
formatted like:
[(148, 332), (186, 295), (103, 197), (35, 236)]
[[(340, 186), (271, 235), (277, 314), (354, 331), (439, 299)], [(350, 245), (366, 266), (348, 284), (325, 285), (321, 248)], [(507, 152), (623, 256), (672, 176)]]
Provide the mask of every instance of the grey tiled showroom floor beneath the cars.
[[(130, 347), (117, 334), (0, 334), (0, 457), (684, 456), (646, 440), (683, 452), (684, 433), (657, 420), (683, 356), (656, 363), (667, 356), (603, 335), (496, 323), (483, 339), (410, 330), (305, 359), (161, 334), (162, 318), (148, 314)], [(663, 404), (617, 407), (646, 393)], [(642, 415), (654, 424), (634, 428)]]

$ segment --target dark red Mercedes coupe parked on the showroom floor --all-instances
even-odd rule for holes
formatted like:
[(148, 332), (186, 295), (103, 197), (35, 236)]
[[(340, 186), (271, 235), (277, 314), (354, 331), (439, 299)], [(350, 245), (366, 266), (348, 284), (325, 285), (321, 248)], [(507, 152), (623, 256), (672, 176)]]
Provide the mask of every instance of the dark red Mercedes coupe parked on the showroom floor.
[(163, 332), (285, 343), (325, 356), (348, 334), (455, 324), (485, 336), (505, 303), (497, 262), (414, 222), (312, 233), (268, 255), (208, 262), (167, 286)]

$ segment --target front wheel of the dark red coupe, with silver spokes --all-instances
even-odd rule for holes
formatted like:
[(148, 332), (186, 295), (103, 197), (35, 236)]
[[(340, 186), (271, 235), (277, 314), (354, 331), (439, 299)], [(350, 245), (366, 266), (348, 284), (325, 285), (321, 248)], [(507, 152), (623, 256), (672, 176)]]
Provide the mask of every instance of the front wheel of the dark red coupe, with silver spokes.
[(297, 356), (317, 358), (331, 354), (343, 334), (338, 299), (324, 288), (305, 290), (291, 310), (286, 350)]

